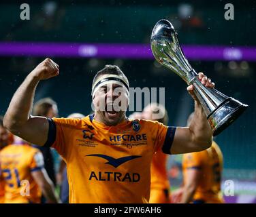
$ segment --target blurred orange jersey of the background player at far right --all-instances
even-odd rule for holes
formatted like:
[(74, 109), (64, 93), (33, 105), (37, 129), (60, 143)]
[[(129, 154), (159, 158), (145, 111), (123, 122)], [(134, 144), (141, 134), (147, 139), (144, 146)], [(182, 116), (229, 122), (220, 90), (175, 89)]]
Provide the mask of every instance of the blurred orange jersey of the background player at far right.
[(193, 201), (204, 203), (223, 203), (221, 195), (221, 173), (223, 155), (216, 142), (204, 151), (187, 153), (182, 158), (184, 184), (187, 182), (188, 170), (200, 170), (199, 184), (195, 190)]

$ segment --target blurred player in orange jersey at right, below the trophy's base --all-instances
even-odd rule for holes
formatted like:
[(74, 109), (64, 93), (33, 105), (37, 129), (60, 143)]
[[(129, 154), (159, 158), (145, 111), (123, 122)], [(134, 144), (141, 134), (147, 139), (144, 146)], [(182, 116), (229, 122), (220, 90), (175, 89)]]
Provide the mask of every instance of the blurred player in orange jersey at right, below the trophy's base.
[[(189, 116), (187, 124), (193, 119)], [(223, 155), (216, 142), (204, 151), (182, 156), (183, 186), (173, 194), (173, 203), (223, 203), (221, 174)]]

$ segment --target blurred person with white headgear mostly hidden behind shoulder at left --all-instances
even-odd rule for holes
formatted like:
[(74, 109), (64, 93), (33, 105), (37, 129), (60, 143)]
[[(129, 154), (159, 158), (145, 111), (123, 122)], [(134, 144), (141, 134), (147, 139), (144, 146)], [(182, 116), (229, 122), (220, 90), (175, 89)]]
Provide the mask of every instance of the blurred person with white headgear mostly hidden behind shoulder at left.
[[(72, 113), (67, 118), (83, 118), (84, 115), (80, 113)], [(60, 161), (60, 167), (58, 172), (59, 180), (58, 182), (61, 183), (61, 202), (62, 203), (69, 203), (69, 183), (67, 181), (67, 165), (63, 159)]]

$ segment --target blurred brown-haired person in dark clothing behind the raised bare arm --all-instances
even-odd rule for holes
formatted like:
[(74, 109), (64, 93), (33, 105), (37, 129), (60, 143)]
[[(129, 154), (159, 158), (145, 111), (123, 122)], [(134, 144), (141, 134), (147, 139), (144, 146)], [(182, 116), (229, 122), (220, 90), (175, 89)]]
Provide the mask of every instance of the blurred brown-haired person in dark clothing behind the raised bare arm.
[[(43, 116), (48, 118), (58, 117), (59, 111), (58, 111), (57, 103), (54, 102), (54, 100), (52, 100), (51, 98), (42, 98), (41, 100), (38, 100), (34, 104), (33, 115)], [(56, 175), (54, 170), (54, 160), (53, 160), (53, 156), (50, 148), (41, 147), (41, 146), (35, 146), (35, 147), (42, 152), (44, 156), (44, 167), (46, 168), (46, 172), (50, 177), (50, 180), (52, 180), (54, 186), (56, 186), (57, 182), (56, 182)]]

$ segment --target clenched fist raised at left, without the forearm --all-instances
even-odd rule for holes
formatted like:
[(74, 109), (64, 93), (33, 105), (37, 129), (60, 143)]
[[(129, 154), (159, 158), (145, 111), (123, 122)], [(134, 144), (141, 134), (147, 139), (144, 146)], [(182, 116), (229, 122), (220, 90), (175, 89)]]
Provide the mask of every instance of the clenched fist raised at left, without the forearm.
[(59, 65), (50, 58), (46, 58), (33, 69), (31, 75), (36, 77), (39, 81), (50, 79), (51, 77), (59, 75)]

